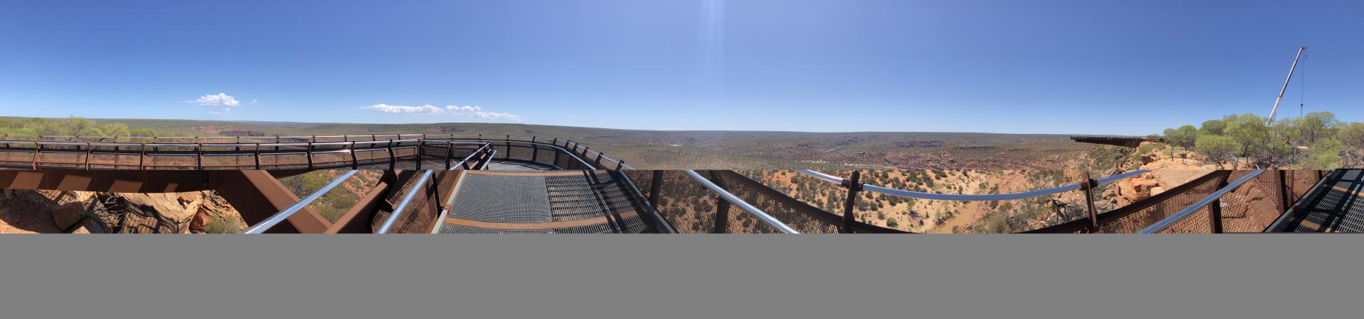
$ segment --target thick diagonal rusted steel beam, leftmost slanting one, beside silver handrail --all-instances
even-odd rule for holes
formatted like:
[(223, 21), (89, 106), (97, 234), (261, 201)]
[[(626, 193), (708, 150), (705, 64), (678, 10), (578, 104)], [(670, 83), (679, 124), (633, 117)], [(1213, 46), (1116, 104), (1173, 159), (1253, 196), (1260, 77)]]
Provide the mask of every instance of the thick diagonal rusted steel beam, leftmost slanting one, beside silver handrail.
[[(213, 189), (218, 191), (218, 195), (241, 213), (241, 219), (248, 225), (261, 222), (299, 202), (299, 196), (266, 170), (214, 170), (210, 181)], [(291, 215), (288, 221), (266, 232), (323, 233), (331, 228), (331, 222), (310, 207)]]

